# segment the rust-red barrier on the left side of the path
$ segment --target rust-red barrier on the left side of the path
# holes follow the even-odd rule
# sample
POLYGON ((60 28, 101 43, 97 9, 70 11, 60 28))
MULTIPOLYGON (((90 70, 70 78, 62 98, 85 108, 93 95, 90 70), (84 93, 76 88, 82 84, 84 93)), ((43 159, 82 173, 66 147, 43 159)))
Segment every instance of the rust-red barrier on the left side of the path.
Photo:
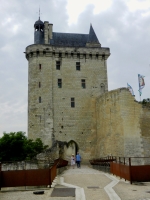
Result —
POLYGON ((1 171, 0 163, 0 189, 2 187, 51 185, 56 175, 56 165, 50 169, 1 171))

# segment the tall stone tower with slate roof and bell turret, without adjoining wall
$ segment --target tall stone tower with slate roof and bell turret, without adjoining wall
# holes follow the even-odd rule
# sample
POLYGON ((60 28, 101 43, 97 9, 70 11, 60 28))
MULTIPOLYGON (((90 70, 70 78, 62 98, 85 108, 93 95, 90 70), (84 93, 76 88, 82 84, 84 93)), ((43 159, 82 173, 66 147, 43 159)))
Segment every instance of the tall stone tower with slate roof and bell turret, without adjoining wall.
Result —
POLYGON ((34 24, 28 60, 28 137, 75 141, 84 159, 94 154, 95 98, 108 91, 109 48, 90 25, 89 34, 53 32, 53 25, 34 24))

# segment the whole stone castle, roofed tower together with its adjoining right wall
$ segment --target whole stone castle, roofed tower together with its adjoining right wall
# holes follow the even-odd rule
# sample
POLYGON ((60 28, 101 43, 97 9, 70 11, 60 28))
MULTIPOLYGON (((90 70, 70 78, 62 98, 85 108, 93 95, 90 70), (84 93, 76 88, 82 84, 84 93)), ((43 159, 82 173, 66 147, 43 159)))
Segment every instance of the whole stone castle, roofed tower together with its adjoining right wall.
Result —
POLYGON ((126 88, 108 92, 110 51, 101 47, 92 25, 89 34, 56 33, 39 18, 34 28, 34 44, 25 52, 28 137, 51 148, 71 142, 63 146, 64 157, 79 149, 84 162, 149 156, 150 110, 126 88))

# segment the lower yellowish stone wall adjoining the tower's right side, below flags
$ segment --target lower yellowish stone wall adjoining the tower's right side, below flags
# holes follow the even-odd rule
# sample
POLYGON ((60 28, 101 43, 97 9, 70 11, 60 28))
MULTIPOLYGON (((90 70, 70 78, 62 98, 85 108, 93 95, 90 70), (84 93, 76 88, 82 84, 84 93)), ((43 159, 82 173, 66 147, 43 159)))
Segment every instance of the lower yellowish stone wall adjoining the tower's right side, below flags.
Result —
POLYGON ((150 110, 135 101, 128 89, 101 95, 96 102, 96 156, 149 156, 150 110))

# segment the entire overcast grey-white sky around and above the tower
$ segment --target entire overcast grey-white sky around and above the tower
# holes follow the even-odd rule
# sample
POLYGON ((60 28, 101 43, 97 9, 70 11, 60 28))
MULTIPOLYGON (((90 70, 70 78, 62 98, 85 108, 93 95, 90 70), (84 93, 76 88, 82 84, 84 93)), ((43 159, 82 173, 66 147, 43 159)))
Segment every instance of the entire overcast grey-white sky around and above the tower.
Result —
POLYGON ((0 137, 27 132, 28 62, 24 51, 34 42, 38 19, 53 31, 88 33, 92 23, 102 47, 109 47, 109 90, 133 87, 139 101, 138 74, 145 76, 142 99, 150 98, 150 0, 1 0, 0 137))

